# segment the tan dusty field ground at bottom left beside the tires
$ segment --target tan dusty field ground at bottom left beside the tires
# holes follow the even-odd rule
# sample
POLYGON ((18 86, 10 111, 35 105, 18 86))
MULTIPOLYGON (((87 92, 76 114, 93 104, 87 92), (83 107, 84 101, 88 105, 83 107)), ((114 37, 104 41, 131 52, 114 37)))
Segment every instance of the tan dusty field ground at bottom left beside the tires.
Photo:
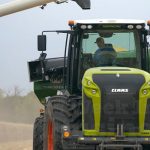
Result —
POLYGON ((0 150, 32 150, 33 126, 0 122, 0 150))

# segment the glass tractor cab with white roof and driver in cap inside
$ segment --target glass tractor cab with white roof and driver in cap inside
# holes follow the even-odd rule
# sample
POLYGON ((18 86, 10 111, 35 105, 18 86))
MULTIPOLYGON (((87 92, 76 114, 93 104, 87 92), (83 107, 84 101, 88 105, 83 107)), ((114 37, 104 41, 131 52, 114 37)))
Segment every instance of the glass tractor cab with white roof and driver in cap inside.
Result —
POLYGON ((71 44, 68 55, 73 85, 78 83, 75 89, 81 87, 80 81, 89 68, 130 67, 149 72, 145 21, 80 20, 70 21, 69 25, 76 33, 70 37, 74 46, 71 44))

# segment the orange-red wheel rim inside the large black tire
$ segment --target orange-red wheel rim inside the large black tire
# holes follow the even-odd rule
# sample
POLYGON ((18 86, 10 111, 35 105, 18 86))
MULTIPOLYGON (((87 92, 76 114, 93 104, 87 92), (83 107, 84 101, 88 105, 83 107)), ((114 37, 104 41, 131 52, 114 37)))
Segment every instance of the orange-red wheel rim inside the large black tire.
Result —
POLYGON ((48 150, 54 150, 54 141, 53 141, 53 124, 48 122, 48 150))

